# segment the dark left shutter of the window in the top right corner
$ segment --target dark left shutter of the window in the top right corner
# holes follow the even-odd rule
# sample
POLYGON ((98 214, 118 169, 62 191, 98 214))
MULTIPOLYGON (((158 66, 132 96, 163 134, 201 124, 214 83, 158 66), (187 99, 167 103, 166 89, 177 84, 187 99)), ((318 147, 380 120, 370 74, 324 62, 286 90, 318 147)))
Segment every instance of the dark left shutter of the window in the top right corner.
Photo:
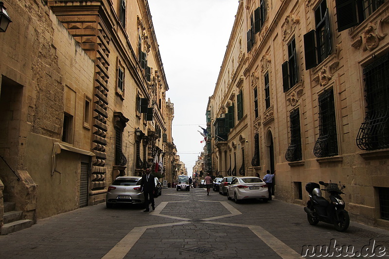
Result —
POLYGON ((357 25, 355 0, 336 0, 335 2, 338 32, 357 25))

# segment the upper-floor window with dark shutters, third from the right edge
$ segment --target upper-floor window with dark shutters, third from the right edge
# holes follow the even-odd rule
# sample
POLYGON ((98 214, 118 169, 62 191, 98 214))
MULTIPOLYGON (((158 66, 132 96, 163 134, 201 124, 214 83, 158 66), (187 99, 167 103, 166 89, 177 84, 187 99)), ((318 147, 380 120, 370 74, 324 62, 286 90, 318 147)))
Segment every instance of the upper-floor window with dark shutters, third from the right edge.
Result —
POLYGON ((283 69, 283 92, 292 88, 298 82, 296 40, 288 44, 288 61, 285 61, 283 69))

